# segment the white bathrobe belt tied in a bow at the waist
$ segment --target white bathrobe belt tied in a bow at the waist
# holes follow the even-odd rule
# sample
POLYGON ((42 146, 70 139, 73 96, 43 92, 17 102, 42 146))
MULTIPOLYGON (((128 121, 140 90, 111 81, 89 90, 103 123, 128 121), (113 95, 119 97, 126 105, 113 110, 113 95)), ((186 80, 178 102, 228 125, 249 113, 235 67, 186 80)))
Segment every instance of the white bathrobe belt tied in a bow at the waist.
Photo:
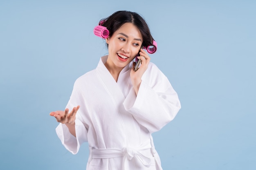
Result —
POLYGON ((137 157, 141 163, 149 167, 151 164, 151 159, 149 157, 146 157, 141 153, 143 150, 153 149, 151 140, 149 139, 147 142, 142 144, 140 147, 137 148, 130 148, 126 147, 123 149, 118 148, 107 148, 107 149, 97 149, 90 147, 90 159, 92 158, 98 158, 98 159, 104 159, 104 158, 115 158, 115 157, 123 157, 123 168, 125 169, 126 161, 133 159, 134 157, 137 157))

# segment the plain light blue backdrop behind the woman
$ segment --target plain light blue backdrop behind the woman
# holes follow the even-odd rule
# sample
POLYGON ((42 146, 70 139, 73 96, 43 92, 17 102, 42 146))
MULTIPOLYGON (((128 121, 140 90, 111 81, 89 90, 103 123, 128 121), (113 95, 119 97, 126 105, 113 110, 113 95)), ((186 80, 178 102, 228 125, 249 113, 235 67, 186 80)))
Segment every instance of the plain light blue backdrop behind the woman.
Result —
POLYGON ((1 0, 1 169, 85 170, 88 144, 68 152, 49 113, 107 53, 94 26, 130 10, 148 22, 151 61, 182 104, 153 134, 164 170, 255 170, 255 9, 254 0, 1 0))

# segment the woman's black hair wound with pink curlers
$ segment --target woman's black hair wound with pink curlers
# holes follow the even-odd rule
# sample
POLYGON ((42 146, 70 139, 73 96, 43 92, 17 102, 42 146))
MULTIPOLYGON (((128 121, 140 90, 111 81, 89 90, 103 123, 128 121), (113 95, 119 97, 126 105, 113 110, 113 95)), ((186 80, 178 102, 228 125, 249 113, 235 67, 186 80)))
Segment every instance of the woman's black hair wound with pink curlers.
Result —
POLYGON ((108 18, 100 20, 99 24, 107 27, 109 37, 111 37, 117 29, 127 22, 134 24, 139 29, 143 38, 142 46, 147 47, 153 45, 153 37, 148 28, 148 24, 138 13, 131 11, 117 11, 108 18))

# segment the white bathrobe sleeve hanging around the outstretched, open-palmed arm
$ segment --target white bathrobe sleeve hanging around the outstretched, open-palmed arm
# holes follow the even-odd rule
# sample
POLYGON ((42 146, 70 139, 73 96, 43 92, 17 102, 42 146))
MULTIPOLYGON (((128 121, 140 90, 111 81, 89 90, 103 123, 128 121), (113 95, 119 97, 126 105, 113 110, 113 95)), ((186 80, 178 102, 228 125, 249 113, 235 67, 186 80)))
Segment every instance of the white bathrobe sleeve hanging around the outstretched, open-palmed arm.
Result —
POLYGON ((76 113, 75 120, 76 137, 74 137, 70 133, 65 124, 60 123, 56 128, 56 133, 59 139, 61 139, 61 143, 72 154, 76 154, 79 151, 81 144, 83 142, 88 141, 88 128, 86 128, 87 126, 85 124, 84 118, 81 117, 81 115, 84 114, 83 112, 85 112, 85 106, 83 106, 83 97, 81 96, 81 91, 79 87, 80 83, 78 80, 76 80, 72 91, 72 95, 70 96, 70 100, 66 106, 66 108, 68 108, 71 111, 74 107, 80 105, 80 108, 76 113))

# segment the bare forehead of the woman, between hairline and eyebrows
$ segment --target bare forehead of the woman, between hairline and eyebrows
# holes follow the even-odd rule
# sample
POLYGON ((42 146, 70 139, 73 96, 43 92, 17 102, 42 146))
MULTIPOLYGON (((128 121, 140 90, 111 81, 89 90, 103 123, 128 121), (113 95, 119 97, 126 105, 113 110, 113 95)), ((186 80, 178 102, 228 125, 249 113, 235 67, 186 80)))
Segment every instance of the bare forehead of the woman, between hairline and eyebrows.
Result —
POLYGON ((135 26, 132 23, 125 23, 123 24, 117 31, 115 31, 114 35, 118 35, 120 33, 124 33, 126 35, 128 35, 129 38, 140 38, 142 39, 142 35, 139 31, 139 29, 137 28, 137 26, 135 26))

